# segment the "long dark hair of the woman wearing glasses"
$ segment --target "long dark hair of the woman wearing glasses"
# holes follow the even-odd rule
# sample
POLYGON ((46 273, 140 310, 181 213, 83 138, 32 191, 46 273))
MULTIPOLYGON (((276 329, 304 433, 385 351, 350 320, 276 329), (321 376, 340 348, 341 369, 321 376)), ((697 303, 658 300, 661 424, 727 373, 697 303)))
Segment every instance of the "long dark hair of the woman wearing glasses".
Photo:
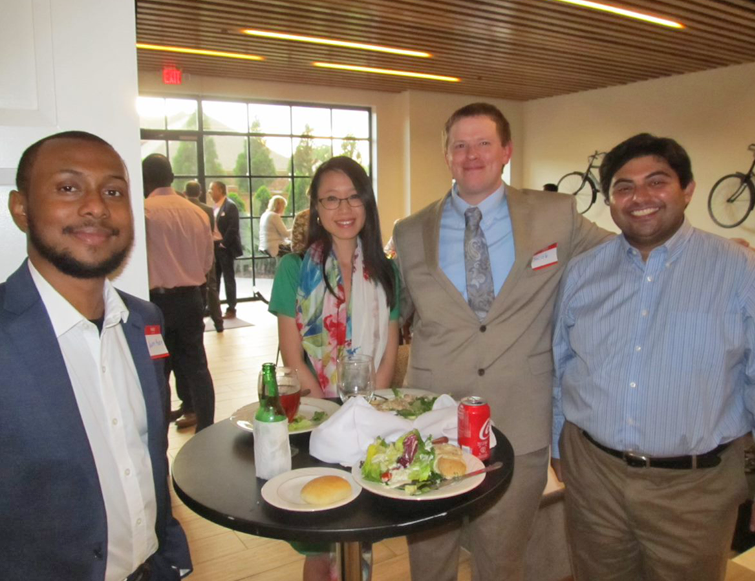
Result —
POLYGON ((330 293, 333 296, 338 296, 331 288, 325 276, 325 261, 333 248, 333 241, 328 231, 320 223, 320 208, 317 205, 320 182, 322 181, 322 177, 330 171, 338 171, 345 174, 351 180, 351 183, 354 184, 354 189, 356 189, 357 195, 364 204, 364 227, 359 233, 359 239, 362 241, 362 252, 364 254, 364 268, 370 280, 383 286, 388 305, 393 309, 396 306, 396 281, 391 261, 383 252, 380 220, 378 219, 377 204, 375 203, 375 194, 372 191, 372 183, 364 168, 350 157, 340 155, 330 158, 317 168, 315 175, 312 177, 312 184, 309 186, 309 238, 307 240, 307 247, 312 246, 315 242, 322 243, 323 279, 330 293))

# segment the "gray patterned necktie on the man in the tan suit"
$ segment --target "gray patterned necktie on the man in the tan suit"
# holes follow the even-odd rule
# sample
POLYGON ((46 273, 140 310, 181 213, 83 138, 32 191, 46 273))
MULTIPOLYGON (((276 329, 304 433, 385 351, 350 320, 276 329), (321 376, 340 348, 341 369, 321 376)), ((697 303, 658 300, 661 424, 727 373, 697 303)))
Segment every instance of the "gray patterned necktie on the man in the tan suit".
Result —
POLYGON ((467 272, 467 301, 481 321, 493 304, 493 273, 485 233, 480 228, 482 212, 477 207, 464 212, 464 266, 467 272))

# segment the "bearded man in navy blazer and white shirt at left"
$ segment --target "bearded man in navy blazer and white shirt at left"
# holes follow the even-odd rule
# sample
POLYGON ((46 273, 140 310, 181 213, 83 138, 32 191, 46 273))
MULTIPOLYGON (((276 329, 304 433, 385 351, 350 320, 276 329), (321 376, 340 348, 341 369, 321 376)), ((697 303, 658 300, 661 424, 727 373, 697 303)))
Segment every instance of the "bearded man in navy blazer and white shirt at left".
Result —
POLYGON ((133 242, 126 168, 60 133, 26 150, 17 188, 29 258, 0 284, 0 577, 179 579, 162 315, 107 280, 133 242))

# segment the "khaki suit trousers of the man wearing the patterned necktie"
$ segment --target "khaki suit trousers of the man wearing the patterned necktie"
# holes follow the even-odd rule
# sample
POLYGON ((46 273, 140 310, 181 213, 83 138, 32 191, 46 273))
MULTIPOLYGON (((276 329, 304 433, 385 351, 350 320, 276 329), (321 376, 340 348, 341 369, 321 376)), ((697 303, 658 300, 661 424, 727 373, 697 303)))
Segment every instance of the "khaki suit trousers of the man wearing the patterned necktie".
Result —
MULTIPOLYGON (((465 523, 474 581, 522 581, 524 553, 548 479, 548 448, 514 459, 509 488, 465 523)), ((453 581, 459 567, 462 524, 409 535, 413 581, 453 581)))

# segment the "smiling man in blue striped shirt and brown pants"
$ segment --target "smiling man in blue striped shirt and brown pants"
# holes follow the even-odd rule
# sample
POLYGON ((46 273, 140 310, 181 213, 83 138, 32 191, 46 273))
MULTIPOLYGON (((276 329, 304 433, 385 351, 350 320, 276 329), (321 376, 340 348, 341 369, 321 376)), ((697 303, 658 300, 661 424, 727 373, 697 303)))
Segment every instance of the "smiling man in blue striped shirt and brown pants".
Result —
POLYGON ((747 494, 755 255, 685 219, 695 184, 671 139, 628 139, 600 178, 623 235, 569 263, 554 315, 574 576, 722 580, 747 494))

